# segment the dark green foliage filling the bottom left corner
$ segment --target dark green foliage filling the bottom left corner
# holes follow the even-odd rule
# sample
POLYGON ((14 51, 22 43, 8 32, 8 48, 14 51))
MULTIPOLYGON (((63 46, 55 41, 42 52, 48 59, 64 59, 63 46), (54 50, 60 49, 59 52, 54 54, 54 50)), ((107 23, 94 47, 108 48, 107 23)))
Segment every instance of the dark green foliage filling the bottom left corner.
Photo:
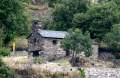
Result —
POLYGON ((0 59, 0 78, 17 78, 15 72, 0 59))

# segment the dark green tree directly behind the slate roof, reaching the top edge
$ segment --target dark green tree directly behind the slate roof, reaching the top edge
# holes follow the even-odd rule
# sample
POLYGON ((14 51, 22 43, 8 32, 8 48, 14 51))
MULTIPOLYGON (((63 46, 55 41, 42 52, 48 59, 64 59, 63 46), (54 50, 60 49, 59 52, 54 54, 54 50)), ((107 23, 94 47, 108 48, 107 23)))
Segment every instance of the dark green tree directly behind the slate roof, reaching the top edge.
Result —
POLYGON ((47 28, 54 30, 68 30, 73 27, 72 19, 76 13, 84 13, 88 9, 86 0, 61 0, 54 4, 53 20, 47 28), (53 25, 51 25, 53 24, 53 25))

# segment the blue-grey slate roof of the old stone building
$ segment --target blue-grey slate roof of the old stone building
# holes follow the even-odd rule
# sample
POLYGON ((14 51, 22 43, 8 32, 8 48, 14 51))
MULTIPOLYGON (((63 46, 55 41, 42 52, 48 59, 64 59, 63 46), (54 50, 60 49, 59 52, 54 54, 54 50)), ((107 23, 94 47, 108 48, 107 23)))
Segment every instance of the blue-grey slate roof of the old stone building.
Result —
POLYGON ((65 38, 67 32, 65 31, 52 31, 52 30, 38 30, 42 37, 46 38, 65 38))

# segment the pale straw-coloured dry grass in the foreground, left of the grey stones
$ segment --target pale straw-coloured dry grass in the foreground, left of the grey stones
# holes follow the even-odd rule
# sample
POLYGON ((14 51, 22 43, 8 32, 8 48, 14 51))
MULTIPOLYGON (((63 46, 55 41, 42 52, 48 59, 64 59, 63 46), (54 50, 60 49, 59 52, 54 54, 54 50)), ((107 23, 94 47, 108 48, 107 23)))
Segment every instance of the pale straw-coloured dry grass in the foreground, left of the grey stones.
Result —
POLYGON ((70 71, 72 67, 67 67, 64 65, 59 66, 57 63, 33 64, 29 69, 23 69, 23 65, 28 63, 27 56, 4 57, 2 59, 7 65, 13 69, 16 69, 16 72, 21 76, 21 78, 80 78, 79 72, 74 71, 74 68, 72 71, 70 71), (48 66, 50 70, 58 68, 58 71, 51 72, 50 70, 45 69, 45 65, 48 66), (66 72, 59 72, 61 68, 65 68, 64 70, 66 72))

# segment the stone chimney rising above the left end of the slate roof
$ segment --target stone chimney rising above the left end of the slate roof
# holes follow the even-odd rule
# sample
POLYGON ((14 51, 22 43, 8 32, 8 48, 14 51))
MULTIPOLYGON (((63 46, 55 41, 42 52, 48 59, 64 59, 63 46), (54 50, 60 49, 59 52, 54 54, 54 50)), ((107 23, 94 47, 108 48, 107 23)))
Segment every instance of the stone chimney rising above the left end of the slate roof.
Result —
POLYGON ((39 20, 32 21, 32 32, 36 32, 42 29, 42 23, 39 20))

